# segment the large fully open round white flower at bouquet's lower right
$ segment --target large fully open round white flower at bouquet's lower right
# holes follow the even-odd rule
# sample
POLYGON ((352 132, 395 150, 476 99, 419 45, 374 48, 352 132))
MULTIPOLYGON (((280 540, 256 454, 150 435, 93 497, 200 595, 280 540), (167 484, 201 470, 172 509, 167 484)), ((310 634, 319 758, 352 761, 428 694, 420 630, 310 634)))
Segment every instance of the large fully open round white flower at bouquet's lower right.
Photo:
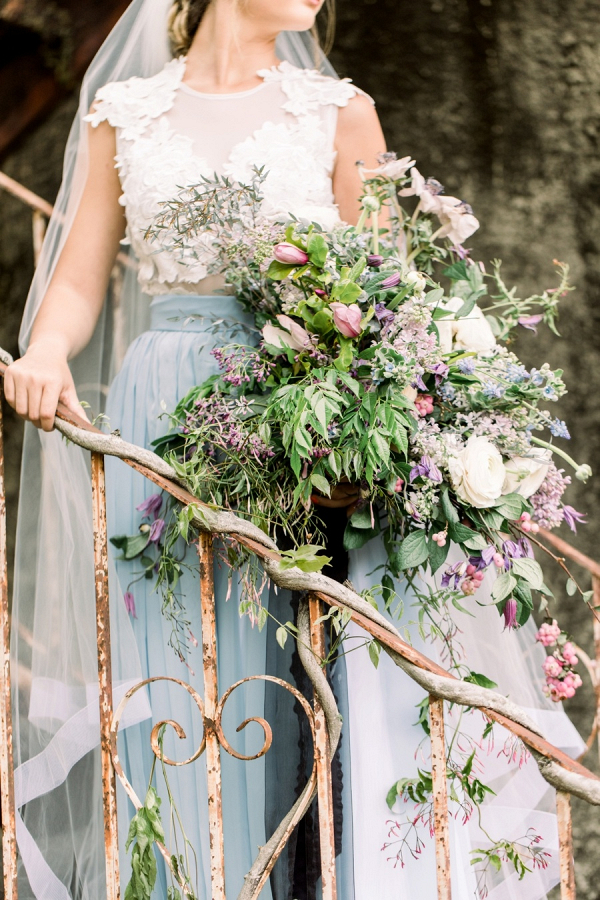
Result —
POLYGON ((502 495, 506 469, 500 451, 487 438, 469 438, 456 456, 450 456, 448 468, 456 493, 471 506, 485 509, 502 495))

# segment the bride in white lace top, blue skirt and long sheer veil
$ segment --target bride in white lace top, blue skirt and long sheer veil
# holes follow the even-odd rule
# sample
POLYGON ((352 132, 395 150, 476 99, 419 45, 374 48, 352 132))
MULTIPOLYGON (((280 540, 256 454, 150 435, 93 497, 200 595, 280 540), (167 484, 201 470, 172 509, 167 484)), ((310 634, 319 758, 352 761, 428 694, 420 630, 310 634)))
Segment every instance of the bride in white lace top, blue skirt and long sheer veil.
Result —
MULTIPOLYGON (((82 451, 51 433, 57 403, 81 415, 85 400, 94 414, 102 409, 109 427, 126 440, 149 446, 167 428, 161 413, 215 370, 212 348, 236 329, 251 327, 226 286, 208 274, 211 248, 201 236, 185 266, 144 238, 161 203, 182 187, 213 173, 248 181, 254 167, 264 166, 270 214, 293 213, 325 227, 340 219, 356 222, 361 193, 356 161, 374 166, 384 138, 371 99, 335 77, 311 36, 324 5, 324 0, 134 0, 84 81, 63 187, 24 317, 23 355, 5 379, 9 403, 37 427, 28 426, 26 434, 13 605, 22 898, 96 900, 105 894, 88 462, 82 451), (120 247, 129 265, 117 294, 109 281, 120 247)), ((333 4, 327 6, 331 13, 333 4)), ((151 485, 128 467, 109 460, 107 485, 111 535, 134 533, 144 514, 146 522, 162 521, 164 499, 154 497, 151 485)), ((352 499, 340 496, 335 505, 343 508, 352 499)), ((373 570, 381 554, 375 542, 351 554, 349 574, 359 590, 376 580, 373 570)), ((202 692, 201 651, 194 647, 201 631, 199 589, 192 573, 186 571, 178 586, 189 619, 189 652, 183 658, 169 647, 170 628, 152 582, 141 579, 131 587, 131 579, 131 563, 115 554, 115 702, 152 675, 185 680, 202 692)), ((220 692, 257 673, 297 680, 291 649, 280 650, 269 628, 259 632, 239 617, 239 585, 226 602, 227 574, 219 566, 215 581, 220 692)), ((272 592, 264 602, 281 621, 293 618, 293 598, 285 592, 272 592)), ((461 629, 471 668, 494 677, 555 743, 578 752, 574 729, 537 686, 540 660, 531 631, 500 633, 497 616, 461 623, 461 629)), ((436 648, 426 652, 435 656, 436 648)), ((385 802, 395 781, 422 767, 422 732, 413 724, 422 693, 402 680, 389 660, 375 670, 362 651, 340 658, 331 674, 344 713, 334 767, 339 896, 433 900, 432 842, 426 837, 420 859, 406 845, 399 865, 394 835, 403 813, 390 811, 385 802), (382 851, 384 844, 390 846, 382 851)), ((223 754, 230 897, 239 893, 259 846, 293 803, 308 761, 292 704, 286 706, 275 689, 261 684, 238 690, 225 720, 232 733, 242 720, 264 712, 275 734, 264 759, 241 763, 223 754)), ((151 777, 152 724, 165 718, 187 734, 177 748, 166 738, 169 756, 189 756, 200 743, 201 722, 185 691, 157 682, 146 695, 137 694, 122 721, 120 757, 138 795, 151 777)), ((248 755, 260 746, 251 731, 236 744, 248 755)), ((533 764, 520 766, 498 753, 505 737, 496 734, 495 750, 485 757, 484 780, 495 790, 486 804, 487 832, 518 841, 532 828, 555 851, 552 793, 533 764)), ((190 857, 194 890, 199 900, 207 900, 203 763, 172 773, 170 793, 195 851, 190 857)), ((167 821, 167 789, 162 781, 157 789, 167 821)), ((120 796, 123 884, 131 814, 120 796)), ((263 896, 317 895, 311 828, 308 820, 292 838, 263 896)), ((469 854, 488 846, 490 838, 477 823, 463 825, 460 818, 451 820, 451 833, 453 896, 467 900, 476 891, 469 854)), ((489 897, 537 900, 556 883, 557 871, 556 853, 547 869, 523 882, 503 869, 490 881, 489 897)), ((160 897, 167 897, 168 884, 159 866, 160 897)))

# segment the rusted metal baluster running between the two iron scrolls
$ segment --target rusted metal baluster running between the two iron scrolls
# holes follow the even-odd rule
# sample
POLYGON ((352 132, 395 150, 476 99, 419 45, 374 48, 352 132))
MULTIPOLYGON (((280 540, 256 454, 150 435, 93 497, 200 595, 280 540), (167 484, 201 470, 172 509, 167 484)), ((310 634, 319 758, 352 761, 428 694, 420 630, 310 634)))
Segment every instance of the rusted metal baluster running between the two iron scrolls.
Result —
POLYGON ((217 625, 213 539, 201 534, 200 603, 202 608, 202 664, 204 667, 204 729, 206 735, 206 771, 208 775, 208 822, 210 829, 210 876, 212 900, 225 900, 225 851, 223 845, 223 807, 221 802, 221 751, 215 729, 217 710, 217 625))

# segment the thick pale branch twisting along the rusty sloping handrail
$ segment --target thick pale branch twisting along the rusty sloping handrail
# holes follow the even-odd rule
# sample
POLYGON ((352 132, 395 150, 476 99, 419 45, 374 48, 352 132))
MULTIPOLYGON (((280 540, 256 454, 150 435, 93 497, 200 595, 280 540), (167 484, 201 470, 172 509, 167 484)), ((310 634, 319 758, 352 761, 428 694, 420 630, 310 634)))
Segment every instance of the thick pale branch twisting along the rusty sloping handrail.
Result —
MULTIPOLYGON (((0 376, 4 368, 5 366, 0 363, 0 376)), ((501 722, 523 740, 532 751, 543 777, 550 784, 560 790, 576 794, 588 803, 600 806, 600 778, 550 744, 517 704, 497 691, 458 680, 420 654, 401 639, 398 631, 384 616, 349 587, 340 585, 320 573, 305 573, 296 568, 282 570, 275 545, 260 529, 254 528, 233 513, 218 513, 201 503, 178 483, 173 483, 162 472, 155 471, 158 468, 155 460, 152 460, 152 468, 147 467, 149 451, 126 442, 117 445, 114 440, 107 441, 106 435, 59 406, 57 428, 62 428, 65 421, 76 426, 69 431, 69 439, 73 443, 108 455, 120 455, 126 451, 127 455, 121 456, 125 462, 141 471, 181 503, 193 504, 197 508, 195 524, 200 530, 227 534, 239 540, 262 560, 267 574, 278 586, 296 591, 313 591, 328 604, 350 610, 353 620, 375 636, 394 662, 426 691, 448 702, 479 707, 484 714, 501 722), (119 453, 113 452, 115 450, 119 453), (222 519, 222 516, 226 519, 222 519)), ((163 460, 160 462, 165 465, 163 460)), ((292 815, 292 812, 289 815, 292 815)), ((270 847, 270 842, 265 848, 267 846, 270 847)), ((247 896, 250 897, 251 894, 247 896)))

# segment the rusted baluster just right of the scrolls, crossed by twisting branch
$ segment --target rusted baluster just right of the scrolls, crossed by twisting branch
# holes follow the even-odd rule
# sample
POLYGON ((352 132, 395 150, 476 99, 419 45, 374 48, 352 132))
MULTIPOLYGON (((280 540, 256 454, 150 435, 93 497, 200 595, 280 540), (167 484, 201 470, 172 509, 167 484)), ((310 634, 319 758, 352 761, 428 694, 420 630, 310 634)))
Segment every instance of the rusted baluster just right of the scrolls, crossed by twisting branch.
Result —
MULTIPOLYGON (((321 601, 313 594, 309 597, 309 609, 311 647, 313 653, 321 660, 325 657, 325 632, 323 623, 318 621, 322 615, 321 601)), ((325 714, 316 695, 314 697, 314 710, 323 900, 336 900, 335 832, 333 826, 329 733, 327 731, 325 714)))

